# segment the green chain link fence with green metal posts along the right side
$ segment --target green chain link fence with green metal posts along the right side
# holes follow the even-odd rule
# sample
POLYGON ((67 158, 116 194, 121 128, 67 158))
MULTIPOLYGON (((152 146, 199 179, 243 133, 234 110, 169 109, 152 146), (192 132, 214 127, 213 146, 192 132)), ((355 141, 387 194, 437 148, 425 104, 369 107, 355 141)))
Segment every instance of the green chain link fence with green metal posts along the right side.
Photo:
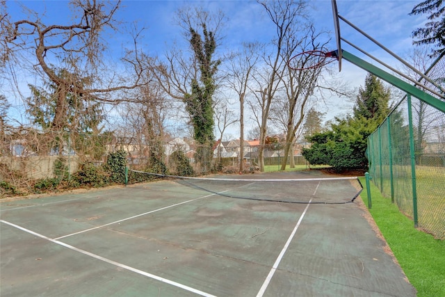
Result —
MULTIPOLYGON (((444 55, 426 74, 445 88, 444 55)), ((444 111, 407 95, 369 136, 368 149, 374 184, 416 227, 445 239, 444 111)))

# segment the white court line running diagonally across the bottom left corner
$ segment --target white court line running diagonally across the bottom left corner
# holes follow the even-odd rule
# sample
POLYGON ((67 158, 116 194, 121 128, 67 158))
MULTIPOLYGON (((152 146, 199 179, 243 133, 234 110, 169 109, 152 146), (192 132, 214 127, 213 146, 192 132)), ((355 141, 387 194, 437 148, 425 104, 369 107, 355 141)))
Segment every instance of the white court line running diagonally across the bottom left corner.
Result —
POLYGON ((128 265, 125 265, 125 264, 122 264, 122 263, 119 263, 119 262, 115 262, 115 261, 113 261, 113 260, 111 260, 111 259, 107 259, 107 258, 105 258, 105 257, 101 257, 101 256, 99 256, 99 255, 93 254, 92 252, 87 252, 86 250, 82 250, 82 249, 80 249, 80 248, 76 248, 75 246, 70 246, 70 245, 67 244, 67 243, 63 243, 62 241, 58 241, 58 240, 56 240, 56 239, 50 239, 50 238, 47 237, 47 236, 44 236, 44 235, 39 234, 39 233, 37 233, 37 232, 33 232, 33 231, 28 230, 28 229, 26 229, 26 228, 24 228, 24 227, 20 227, 19 225, 15 225, 15 224, 13 224, 13 223, 7 222, 6 220, 0 220, 0 222, 1 222, 1 223, 5 223, 6 225, 10 225, 11 227, 15 227, 15 228, 17 228, 17 229, 19 229, 19 230, 22 230, 22 231, 24 231, 24 232, 27 232, 27 233, 29 233, 29 234, 33 234, 33 235, 35 235, 35 236, 38 236, 38 237, 40 237, 41 239, 46 239, 47 241, 51 241, 52 243, 56 243, 56 244, 58 244, 58 245, 60 245, 60 246, 64 246, 65 248, 69 248, 70 250, 74 250, 74 251, 76 251, 76 252, 80 252, 80 253, 83 254, 83 255, 87 255, 87 256, 93 257, 93 258, 95 258, 95 259, 98 259, 98 260, 100 260, 100 261, 106 262, 106 263, 108 263, 108 264, 111 264, 111 265, 114 265, 114 266, 118 266, 118 267, 123 268, 123 269, 125 269, 125 270, 127 270, 127 271, 131 271, 131 272, 134 272, 134 273, 138 273, 138 274, 140 274, 140 275, 144 275, 144 276, 146 276, 147 278, 152 278, 152 279, 154 279, 154 280, 159 280, 160 282, 165 282, 166 284, 171 284, 172 286, 175 286, 175 287, 184 289, 184 290, 186 290, 186 291, 191 291, 191 292, 193 292, 193 293, 195 293, 195 294, 198 294, 198 295, 200 295, 200 296, 205 296, 205 297, 216 297, 216 296, 211 295, 211 294, 209 294, 209 293, 206 293, 206 292, 204 292, 204 291, 200 291, 200 290, 197 290, 197 289, 193 289, 192 287, 188 287, 188 286, 186 286, 185 284, 180 284, 179 282, 174 282, 174 281, 172 281, 172 280, 168 280, 168 279, 166 279, 166 278, 161 278, 161 277, 158 276, 158 275, 154 275, 154 274, 152 274, 152 273, 147 273, 147 272, 145 272, 145 271, 141 271, 140 269, 133 268, 133 267, 131 267, 131 266, 128 266, 128 265))

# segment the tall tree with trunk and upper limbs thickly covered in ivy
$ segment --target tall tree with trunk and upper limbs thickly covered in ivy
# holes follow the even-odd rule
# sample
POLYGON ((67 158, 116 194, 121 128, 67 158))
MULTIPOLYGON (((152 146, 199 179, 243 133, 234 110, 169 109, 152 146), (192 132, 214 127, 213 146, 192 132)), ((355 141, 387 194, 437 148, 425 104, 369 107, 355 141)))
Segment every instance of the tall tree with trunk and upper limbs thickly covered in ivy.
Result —
POLYGON ((164 57, 147 58, 147 68, 165 94, 184 102, 188 124, 196 143, 195 162, 200 170, 211 169, 215 127, 214 93, 218 86, 216 58, 223 13, 209 13, 199 6, 177 10, 176 22, 184 29, 190 51, 172 46, 164 57))

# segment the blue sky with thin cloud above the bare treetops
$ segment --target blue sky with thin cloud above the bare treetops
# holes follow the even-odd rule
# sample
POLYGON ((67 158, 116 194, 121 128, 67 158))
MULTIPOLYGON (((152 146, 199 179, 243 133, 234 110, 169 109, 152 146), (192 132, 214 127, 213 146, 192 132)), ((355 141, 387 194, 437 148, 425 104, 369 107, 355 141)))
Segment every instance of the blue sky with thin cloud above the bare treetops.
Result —
MULTIPOLYGON (((408 15, 412 8, 419 3, 417 1, 337 1, 339 14, 369 33, 376 40, 384 44, 391 51, 405 57, 412 51, 411 33, 426 22, 426 16, 408 15)), ((64 23, 70 20, 67 1, 8 1, 8 8, 13 19, 23 18, 19 10, 19 5, 38 11, 40 15, 45 15, 42 20, 46 24, 64 23)), ((255 1, 129 1, 122 3, 122 9, 118 12, 118 19, 124 22, 137 21, 140 26, 145 26, 143 46, 149 54, 162 54, 168 49, 171 42, 177 40, 181 42, 181 35, 178 26, 173 22, 172 17, 175 10, 184 4, 201 4, 209 10, 223 10, 228 17, 225 26, 224 49, 236 49, 241 42, 259 40, 268 42, 273 37, 275 29, 266 16, 264 8, 255 1)), ((330 47, 336 49, 334 42, 334 26, 332 20, 331 1, 315 0, 311 1, 312 17, 317 29, 331 31, 332 41, 330 47)), ((359 36, 353 30, 341 22, 341 35, 359 47, 366 49, 371 54, 392 63, 391 58, 382 54, 382 51, 371 44, 365 38, 359 36)), ((111 36, 115 39, 116 47, 120 47, 126 40, 125 36, 111 36)), ((343 45, 343 49, 354 52, 348 45, 343 45)), ((361 56, 361 54, 357 54, 361 56)), ((350 87, 358 88, 364 83, 366 72, 360 70, 355 65, 350 65, 343 61, 342 71, 336 74, 350 87)), ((341 115, 350 110, 350 102, 345 99, 332 97, 327 100, 326 106, 320 106, 321 111, 327 112, 325 120, 330 120, 334 115, 341 115)), ((16 109, 17 111, 18 109, 16 109)), ((15 115, 17 116, 17 113, 15 115)), ((235 132, 236 133, 236 132, 235 132)))

